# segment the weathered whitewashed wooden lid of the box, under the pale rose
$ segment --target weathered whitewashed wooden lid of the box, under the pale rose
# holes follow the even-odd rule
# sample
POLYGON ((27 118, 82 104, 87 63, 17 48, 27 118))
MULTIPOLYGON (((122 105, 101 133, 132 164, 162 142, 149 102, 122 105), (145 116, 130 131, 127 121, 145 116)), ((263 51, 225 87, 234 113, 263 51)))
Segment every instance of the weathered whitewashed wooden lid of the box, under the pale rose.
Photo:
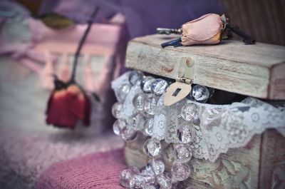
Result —
POLYGON ((257 98, 285 100, 285 46, 221 41, 214 46, 160 44, 177 36, 150 35, 128 44, 125 66, 177 78, 180 59, 195 61, 194 83, 257 98))

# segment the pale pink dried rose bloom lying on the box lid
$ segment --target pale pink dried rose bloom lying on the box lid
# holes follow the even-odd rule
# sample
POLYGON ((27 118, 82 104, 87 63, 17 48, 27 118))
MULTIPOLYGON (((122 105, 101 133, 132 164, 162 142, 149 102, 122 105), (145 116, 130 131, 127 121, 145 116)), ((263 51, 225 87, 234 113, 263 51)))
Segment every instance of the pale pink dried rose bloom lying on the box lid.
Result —
POLYGON ((205 14, 182 25, 181 44, 218 44, 221 40, 223 22, 218 14, 205 14))

